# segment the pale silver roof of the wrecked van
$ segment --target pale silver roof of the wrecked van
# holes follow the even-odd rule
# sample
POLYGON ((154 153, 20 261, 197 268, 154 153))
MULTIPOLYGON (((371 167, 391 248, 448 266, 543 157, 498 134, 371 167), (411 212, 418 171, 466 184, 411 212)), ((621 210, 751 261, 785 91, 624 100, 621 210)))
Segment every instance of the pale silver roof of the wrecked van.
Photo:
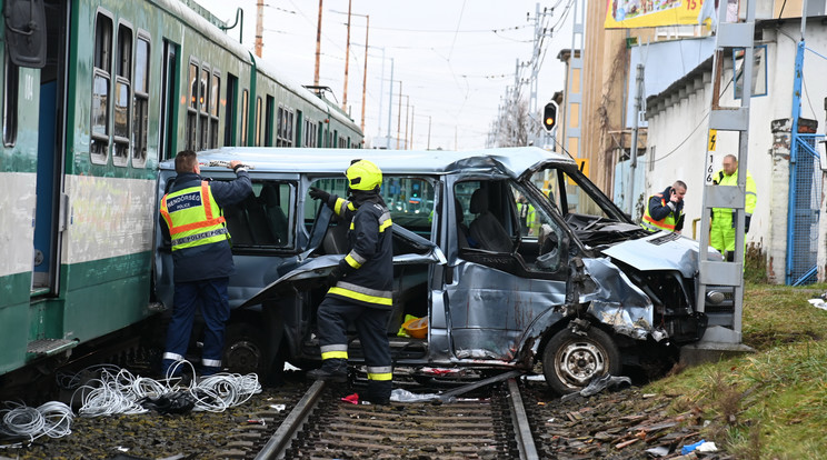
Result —
MULTIPOLYGON (((225 147, 198 153, 202 164, 239 160, 257 171, 295 173, 341 173, 353 159, 370 160, 386 174, 449 174, 458 170, 476 170, 501 172, 515 178, 547 164, 575 164, 575 160, 567 156, 537 147, 462 151, 225 147)), ((175 169, 175 162, 167 160, 160 168, 175 169)))

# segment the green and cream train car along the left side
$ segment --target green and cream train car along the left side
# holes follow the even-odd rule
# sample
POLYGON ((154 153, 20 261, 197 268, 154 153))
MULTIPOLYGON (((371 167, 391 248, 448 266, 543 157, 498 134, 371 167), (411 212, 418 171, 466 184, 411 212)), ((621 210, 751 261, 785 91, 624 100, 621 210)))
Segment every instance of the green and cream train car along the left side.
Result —
POLYGON ((346 113, 193 2, 0 4, 0 389, 157 317, 159 162, 186 148, 361 147, 346 113))

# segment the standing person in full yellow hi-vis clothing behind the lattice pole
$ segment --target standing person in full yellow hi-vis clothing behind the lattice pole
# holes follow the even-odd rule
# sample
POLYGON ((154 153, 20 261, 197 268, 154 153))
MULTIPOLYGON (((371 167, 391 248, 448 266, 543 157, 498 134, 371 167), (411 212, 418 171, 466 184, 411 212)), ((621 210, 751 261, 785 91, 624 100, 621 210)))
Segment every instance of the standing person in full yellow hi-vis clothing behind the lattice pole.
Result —
MULTIPOLYGON (((738 159, 734 154, 724 157, 724 169, 713 176, 713 183, 716 186, 736 187, 738 186, 738 159)), ((744 234, 749 231, 749 221, 753 219, 755 206, 758 202, 758 194, 755 188, 753 176, 747 171, 747 190, 744 203, 744 234)), ((735 259, 735 214, 730 208, 713 208, 713 221, 710 223, 709 244, 720 251, 726 252, 726 260, 735 259)), ((744 239, 746 246, 746 238, 744 239)))

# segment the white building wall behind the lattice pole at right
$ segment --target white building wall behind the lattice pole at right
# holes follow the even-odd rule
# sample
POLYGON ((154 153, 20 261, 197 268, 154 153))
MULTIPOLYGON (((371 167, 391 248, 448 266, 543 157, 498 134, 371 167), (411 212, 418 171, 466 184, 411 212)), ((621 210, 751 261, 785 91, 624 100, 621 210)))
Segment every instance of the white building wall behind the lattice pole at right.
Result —
MULTIPOLYGON (((827 74, 827 60, 818 54, 827 56, 827 26, 823 26, 820 21, 808 21, 806 32, 806 46, 815 52, 805 53, 801 117, 817 120, 818 132, 823 133, 824 98, 827 96, 827 78, 824 76, 827 74)), ((769 256, 774 258, 775 270, 781 270, 781 282, 787 237, 786 232, 779 233, 781 228, 786 229, 788 180, 785 176, 787 166, 783 162, 788 159, 774 159, 770 154, 773 148, 770 122, 791 116, 796 44, 799 38, 800 23, 797 21, 787 21, 778 31, 764 30, 761 43, 767 44, 767 96, 750 100, 747 164, 758 190, 758 206, 753 216, 747 242, 759 243, 765 251, 774 248, 769 256), (776 177, 774 171, 777 171, 776 177), (783 177, 777 177, 779 174, 783 177), (773 219, 784 220, 785 224, 779 226, 780 222, 773 222, 773 219)), ((657 72, 658 69, 648 66, 646 71, 657 72)), ((725 71, 725 76, 721 87, 726 90, 723 92, 720 103, 724 107, 737 107, 739 101, 733 99, 731 68, 725 71)), ((671 96, 672 99, 662 111, 657 112, 656 108, 647 108, 647 117, 650 117, 647 140, 654 164, 648 161, 642 164, 648 171, 646 192, 656 193, 676 179, 684 180, 688 186, 685 203, 687 223, 684 234, 691 237, 693 220, 698 219, 701 212, 701 192, 706 177, 705 154, 711 74, 706 72, 705 78, 695 79, 681 88, 672 89, 671 93, 660 96, 671 96)), ((724 156, 728 153, 738 156, 737 132, 718 134, 718 144, 713 152, 714 172, 720 169, 724 156)))

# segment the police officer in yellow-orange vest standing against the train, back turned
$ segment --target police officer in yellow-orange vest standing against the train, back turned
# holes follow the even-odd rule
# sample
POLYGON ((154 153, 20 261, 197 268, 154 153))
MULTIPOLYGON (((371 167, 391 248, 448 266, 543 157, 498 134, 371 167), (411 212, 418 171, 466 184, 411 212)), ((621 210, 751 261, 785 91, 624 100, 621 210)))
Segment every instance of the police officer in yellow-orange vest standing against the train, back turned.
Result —
POLYGON ((230 233, 221 208, 242 201, 252 191, 241 162, 231 161, 228 168, 236 172, 236 180, 210 182, 199 176, 196 152, 181 151, 176 156, 178 177, 161 199, 161 231, 171 239, 176 283, 165 374, 173 368, 175 376, 180 376, 175 363, 185 359, 199 308, 207 326, 199 372, 210 376, 221 369, 225 323, 230 317, 227 287, 233 272, 230 233))

